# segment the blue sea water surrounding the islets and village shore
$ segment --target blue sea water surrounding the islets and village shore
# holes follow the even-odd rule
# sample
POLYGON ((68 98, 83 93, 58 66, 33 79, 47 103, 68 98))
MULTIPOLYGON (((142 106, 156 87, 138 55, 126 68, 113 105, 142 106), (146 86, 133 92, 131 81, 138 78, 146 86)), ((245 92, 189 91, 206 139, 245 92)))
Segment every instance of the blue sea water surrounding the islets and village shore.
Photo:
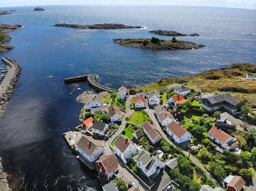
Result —
MULTIPOLYGON (((15 94, 0 116, 0 156, 15 190, 99 190, 96 177, 76 160, 62 133, 78 125, 83 104, 75 98, 86 83, 68 87, 63 80, 99 75, 118 88, 145 85, 163 77, 195 75, 231 63, 256 63, 256 10, 207 7, 43 6, 1 15, 0 23, 20 24, 10 33, 14 49, 3 54, 23 71, 15 94), (88 30, 58 28, 56 23, 121 23, 145 29, 88 30), (151 38, 149 30, 198 33, 177 37, 206 48, 152 51, 124 48, 114 38, 151 38), (73 91, 70 96, 69 91, 73 91)), ((154 35, 161 39, 170 39, 154 35)))

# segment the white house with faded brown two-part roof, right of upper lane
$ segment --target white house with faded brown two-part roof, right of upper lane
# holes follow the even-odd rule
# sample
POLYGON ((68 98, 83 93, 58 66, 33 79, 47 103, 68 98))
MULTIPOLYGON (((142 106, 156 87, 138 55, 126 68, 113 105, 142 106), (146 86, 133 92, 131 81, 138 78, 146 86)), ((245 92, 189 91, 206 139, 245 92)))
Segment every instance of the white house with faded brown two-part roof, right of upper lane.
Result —
POLYGON ((162 105, 154 107, 158 122, 164 127, 171 123, 175 118, 162 105))

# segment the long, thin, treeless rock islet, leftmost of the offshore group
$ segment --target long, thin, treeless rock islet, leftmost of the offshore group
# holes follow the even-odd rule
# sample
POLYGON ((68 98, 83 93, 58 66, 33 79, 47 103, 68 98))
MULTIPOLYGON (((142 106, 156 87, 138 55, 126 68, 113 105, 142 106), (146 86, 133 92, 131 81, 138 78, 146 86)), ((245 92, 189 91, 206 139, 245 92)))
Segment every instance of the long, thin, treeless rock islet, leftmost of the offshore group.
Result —
POLYGON ((58 27, 70 27, 76 29, 141 29, 142 26, 127 26, 122 24, 96 24, 96 25, 74 25, 74 24, 55 24, 58 27))

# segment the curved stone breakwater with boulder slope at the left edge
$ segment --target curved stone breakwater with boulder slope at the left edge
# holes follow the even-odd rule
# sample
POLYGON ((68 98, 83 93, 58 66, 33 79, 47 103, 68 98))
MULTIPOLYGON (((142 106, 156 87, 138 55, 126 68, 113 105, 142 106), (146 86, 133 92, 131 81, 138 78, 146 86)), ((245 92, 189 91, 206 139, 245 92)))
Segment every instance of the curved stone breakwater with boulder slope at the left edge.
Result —
MULTIPOLYGON (((15 67, 15 68, 14 68, 14 74, 9 80, 9 85, 6 88, 6 91, 3 94, 0 95, 0 115, 3 114, 3 111, 5 109, 6 104, 9 102, 12 95, 14 94, 15 87, 17 85, 19 76, 20 76, 21 71, 22 71, 22 68, 20 67, 20 65, 18 65, 17 62, 15 60, 13 60, 12 58, 3 57, 2 61, 6 65, 11 65, 11 67, 15 67)), ((2 83, 4 83, 4 81, 2 83)), ((4 86, 4 84, 1 84, 1 86, 4 86)))

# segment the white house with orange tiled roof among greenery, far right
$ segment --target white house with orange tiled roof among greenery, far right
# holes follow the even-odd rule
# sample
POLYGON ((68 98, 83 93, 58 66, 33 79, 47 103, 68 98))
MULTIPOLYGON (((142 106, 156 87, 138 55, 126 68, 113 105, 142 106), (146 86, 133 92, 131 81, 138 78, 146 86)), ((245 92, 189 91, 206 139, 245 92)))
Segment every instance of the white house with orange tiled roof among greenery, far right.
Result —
POLYGON ((208 132, 208 137, 215 143, 220 144, 227 151, 230 149, 236 149, 239 145, 238 141, 234 137, 224 131, 221 131, 220 129, 216 129, 215 127, 210 129, 208 132))

